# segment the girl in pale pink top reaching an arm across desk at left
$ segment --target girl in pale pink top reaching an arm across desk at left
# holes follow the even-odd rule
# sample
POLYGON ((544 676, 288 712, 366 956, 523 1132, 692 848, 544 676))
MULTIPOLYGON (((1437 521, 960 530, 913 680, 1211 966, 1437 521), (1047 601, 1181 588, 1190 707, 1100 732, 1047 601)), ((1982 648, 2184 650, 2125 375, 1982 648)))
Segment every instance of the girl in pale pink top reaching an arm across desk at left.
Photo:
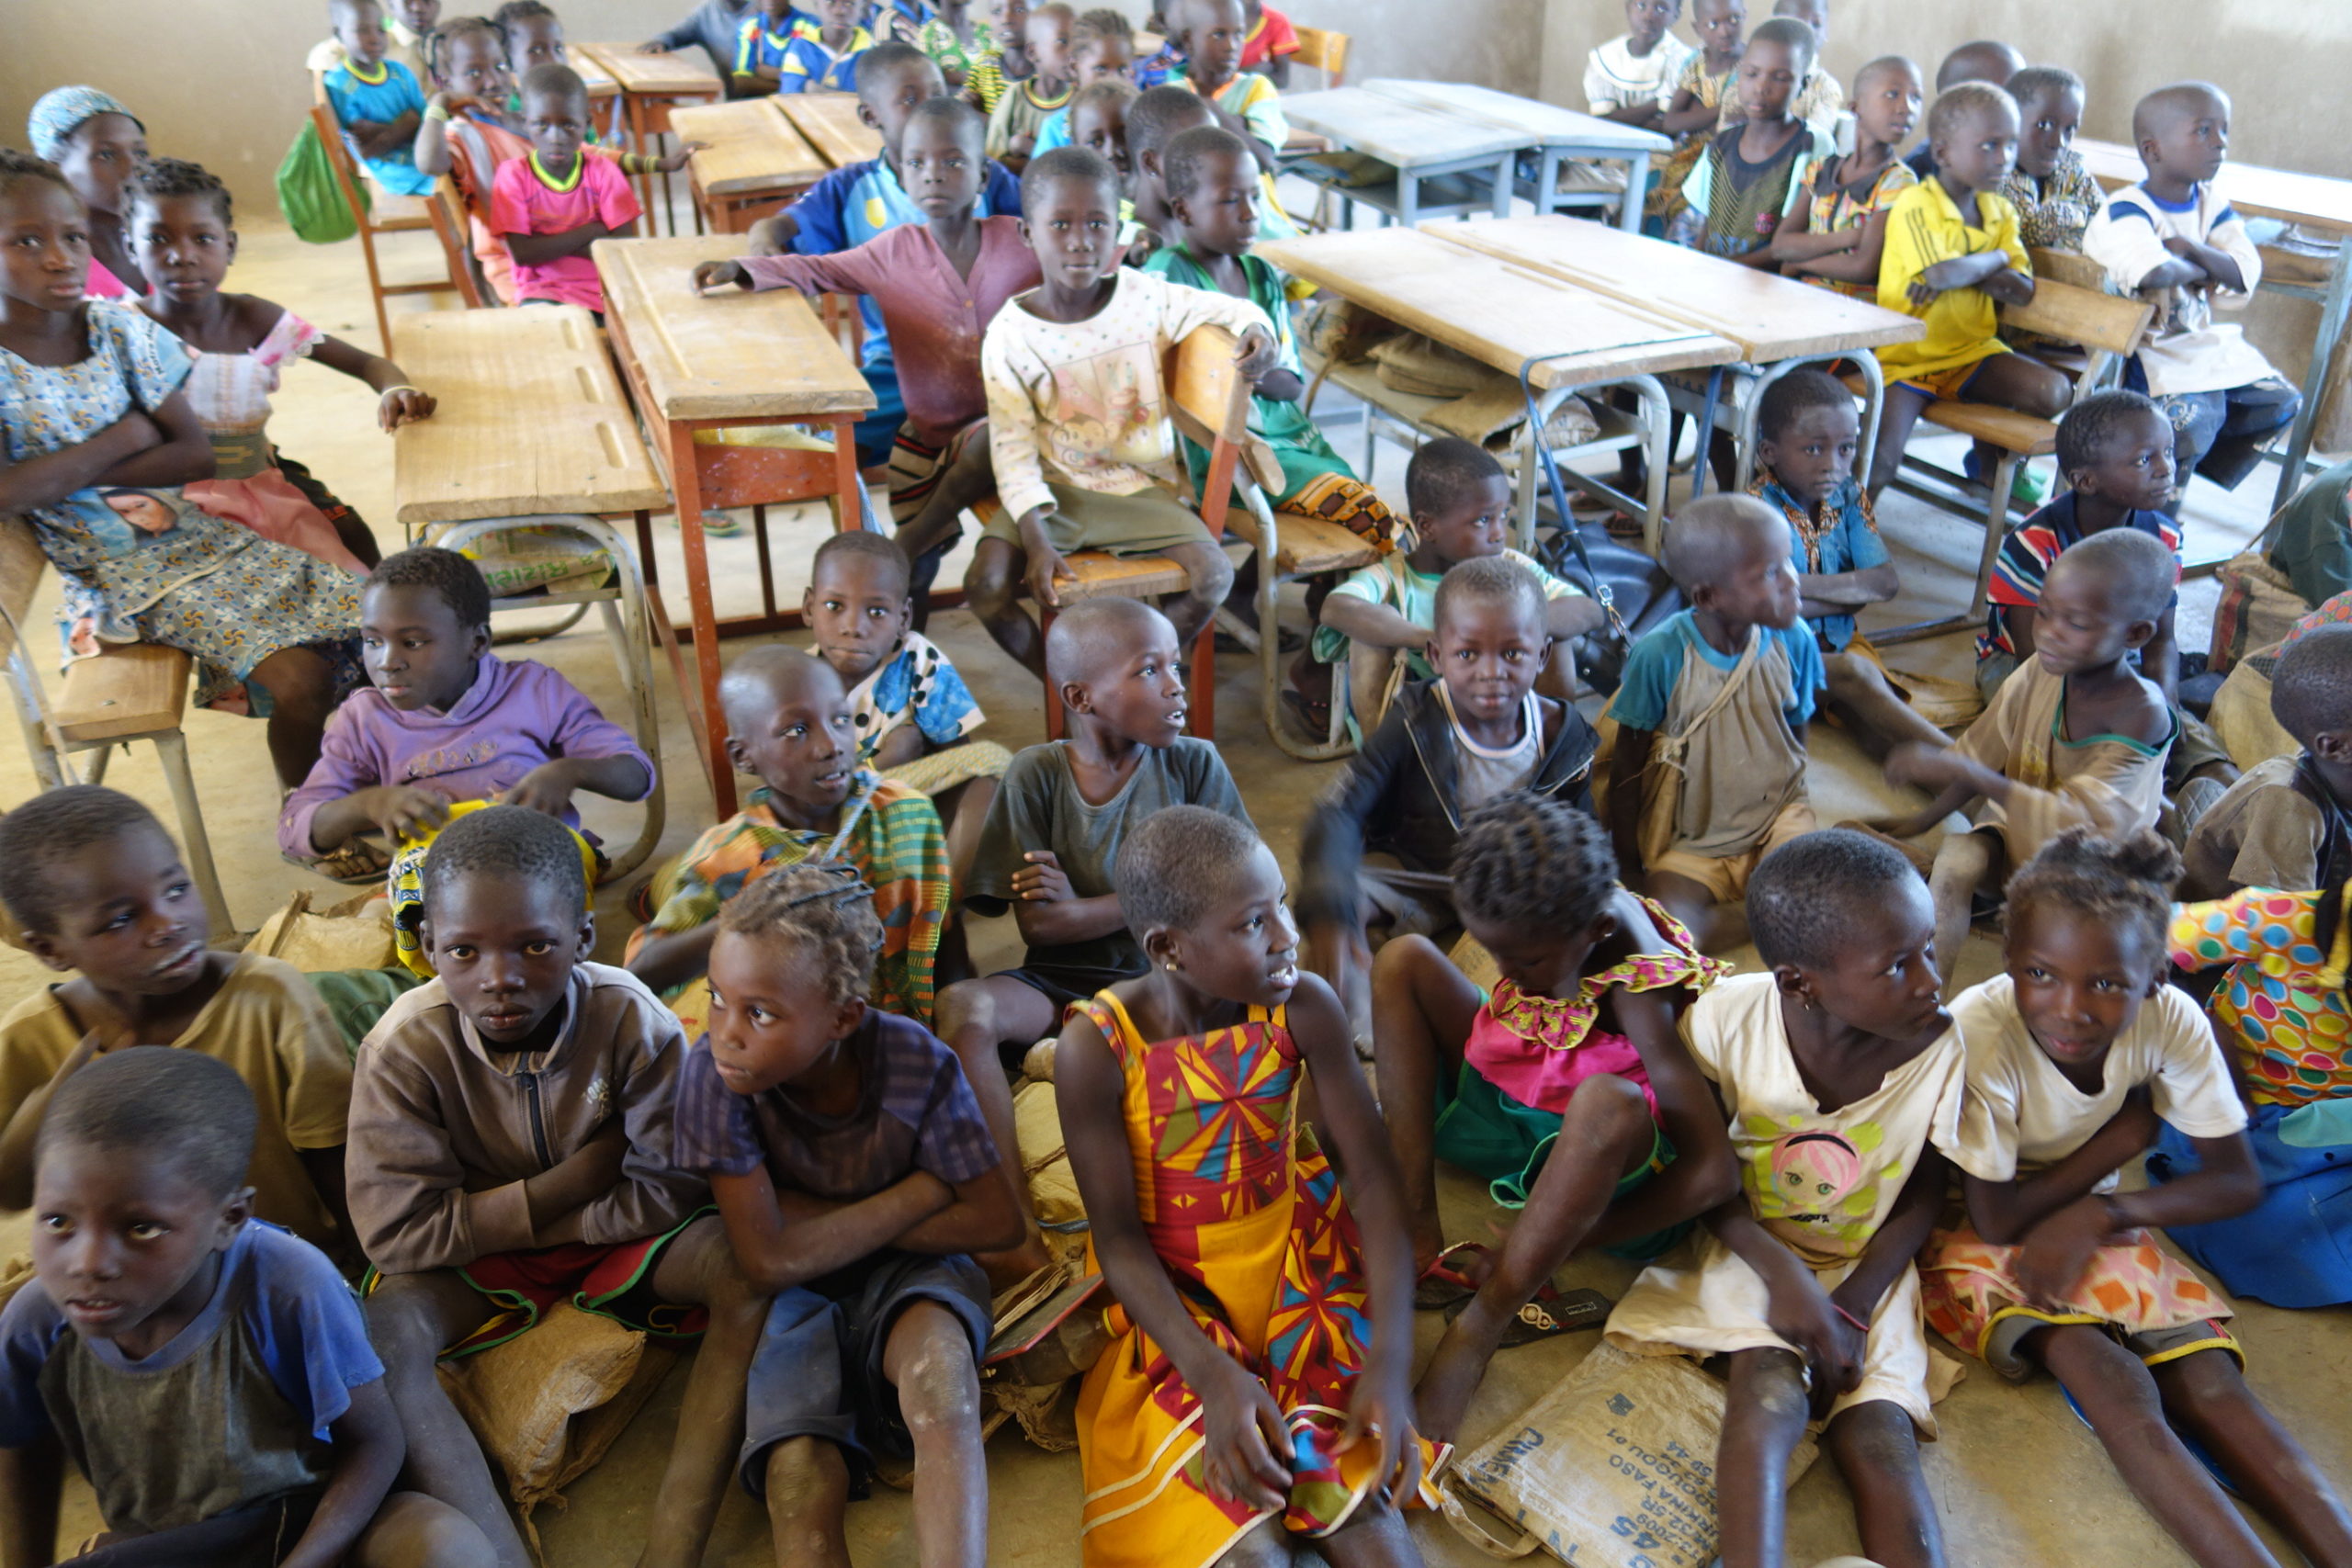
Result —
POLYGON ((129 186, 132 252, 155 292, 141 310, 195 350, 188 402, 212 437, 212 480, 181 487, 214 517, 233 517, 263 538, 308 550, 360 574, 383 559, 367 520, 268 437, 270 395, 294 360, 365 381, 376 423, 397 430, 430 418, 433 395, 397 364, 301 320, 254 294, 223 294, 238 259, 228 186, 193 162, 158 158, 129 186))

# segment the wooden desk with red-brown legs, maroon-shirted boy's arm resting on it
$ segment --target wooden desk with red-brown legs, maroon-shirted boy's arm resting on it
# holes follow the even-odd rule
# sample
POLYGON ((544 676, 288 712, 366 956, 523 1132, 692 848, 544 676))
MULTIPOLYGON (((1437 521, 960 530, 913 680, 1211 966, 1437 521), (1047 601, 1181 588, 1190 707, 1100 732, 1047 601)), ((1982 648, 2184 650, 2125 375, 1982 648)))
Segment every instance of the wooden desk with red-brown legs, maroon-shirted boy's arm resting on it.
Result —
MULTIPOLYGON (((764 103, 764 99, 762 99, 764 103)), ((757 103, 755 103, 757 106, 757 103)), ((694 113, 694 110, 684 110, 694 113)), ((776 583, 760 529, 760 588, 764 616, 720 623, 710 595, 710 557, 703 543, 703 508, 729 505, 713 494, 722 449, 696 449, 696 430, 727 425, 828 425, 830 454, 797 468, 797 494, 764 491, 760 501, 797 501, 830 494, 842 529, 863 527, 866 482, 858 477, 856 423, 875 407, 866 376, 816 320, 816 306, 797 289, 703 299, 691 273, 699 261, 734 259, 743 242, 724 235, 673 240, 597 240, 590 247, 604 280, 604 329, 637 414, 652 435, 654 456, 677 498, 677 531, 687 552, 687 597, 694 607, 696 693, 687 715, 696 726, 703 766, 720 816, 736 809, 734 764, 727 759, 727 715, 720 712, 720 635, 771 630, 776 583), (699 454, 701 451, 701 454, 699 454), (706 473, 708 463, 708 473, 706 473), (699 701, 696 701, 699 698, 699 701)), ((647 555, 652 576, 652 555, 647 555)), ((661 588, 652 585, 654 602, 661 588)))

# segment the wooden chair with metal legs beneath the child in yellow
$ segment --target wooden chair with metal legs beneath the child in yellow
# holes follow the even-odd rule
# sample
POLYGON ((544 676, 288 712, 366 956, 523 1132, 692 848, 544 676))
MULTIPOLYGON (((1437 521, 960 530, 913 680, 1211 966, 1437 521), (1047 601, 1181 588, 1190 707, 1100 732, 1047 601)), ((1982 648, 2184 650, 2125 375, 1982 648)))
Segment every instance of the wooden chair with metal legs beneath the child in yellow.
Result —
MULTIPOLYGON (((2084 367, 2074 376, 2074 397, 2084 397, 2086 393, 2096 393, 2122 360, 2138 353, 2140 339, 2147 334, 2150 320, 2154 320, 2154 306, 2143 299, 2117 299, 2098 289, 2060 282, 2063 275, 2082 277, 2084 273, 2058 252, 2034 252, 2034 296, 2023 306, 2002 306, 1999 322, 2004 334, 2034 334, 2053 343, 2079 346, 2084 350, 2084 367)), ((1985 590, 1992 585, 1992 564, 2002 557, 2002 541, 2009 536, 2011 484, 2018 463, 2058 451, 2058 425, 2053 421, 2018 414, 2016 409, 1999 409, 1987 402, 1938 397, 1919 421, 1938 430, 1966 435, 1971 442, 1985 442, 1999 451, 1999 461, 1992 468, 1992 496, 1983 503, 1985 543, 1976 564, 1976 597, 1957 616, 1915 621, 1872 632, 1870 639, 1882 646, 1957 632, 1983 621, 1985 590)), ((1903 468, 1943 482, 1940 487, 1919 484, 1917 480, 1905 480, 1898 470, 1893 487, 1903 494, 1919 496, 1964 517, 1976 515, 1976 501, 1962 475, 1912 456, 1903 458, 1903 468)), ((2058 484, 2065 484, 2065 475, 2058 475, 2058 484)))

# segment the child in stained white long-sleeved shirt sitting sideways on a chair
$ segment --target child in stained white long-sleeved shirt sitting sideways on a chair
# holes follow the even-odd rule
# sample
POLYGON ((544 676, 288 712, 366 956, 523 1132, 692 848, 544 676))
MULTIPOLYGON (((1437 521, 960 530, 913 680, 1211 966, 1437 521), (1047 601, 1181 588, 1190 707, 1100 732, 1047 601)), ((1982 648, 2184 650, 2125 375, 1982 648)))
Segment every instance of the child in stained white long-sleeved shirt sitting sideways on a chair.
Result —
POLYGON ((967 602, 997 646, 1044 675, 1018 590, 1058 609, 1065 555, 1164 555, 1185 571, 1169 621, 1190 646, 1225 602, 1232 562, 1162 489, 1178 461, 1162 362, 1197 327, 1223 327, 1240 339, 1242 376, 1258 381, 1277 367, 1272 327, 1251 303, 1122 268, 1120 181, 1087 148, 1035 160, 1021 212, 1044 282, 981 343, 1000 512, 964 574, 967 602))

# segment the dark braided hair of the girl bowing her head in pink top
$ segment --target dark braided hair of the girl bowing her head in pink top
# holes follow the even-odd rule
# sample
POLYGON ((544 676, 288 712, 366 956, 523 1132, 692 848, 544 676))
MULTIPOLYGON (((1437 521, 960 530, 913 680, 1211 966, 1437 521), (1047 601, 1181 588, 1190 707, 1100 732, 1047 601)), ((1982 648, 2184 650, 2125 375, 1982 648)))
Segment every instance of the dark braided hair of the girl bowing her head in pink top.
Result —
POLYGON ((1609 835, 1548 795, 1496 795, 1454 844, 1454 900, 1496 926, 1569 936, 1599 919, 1613 896, 1609 835))

